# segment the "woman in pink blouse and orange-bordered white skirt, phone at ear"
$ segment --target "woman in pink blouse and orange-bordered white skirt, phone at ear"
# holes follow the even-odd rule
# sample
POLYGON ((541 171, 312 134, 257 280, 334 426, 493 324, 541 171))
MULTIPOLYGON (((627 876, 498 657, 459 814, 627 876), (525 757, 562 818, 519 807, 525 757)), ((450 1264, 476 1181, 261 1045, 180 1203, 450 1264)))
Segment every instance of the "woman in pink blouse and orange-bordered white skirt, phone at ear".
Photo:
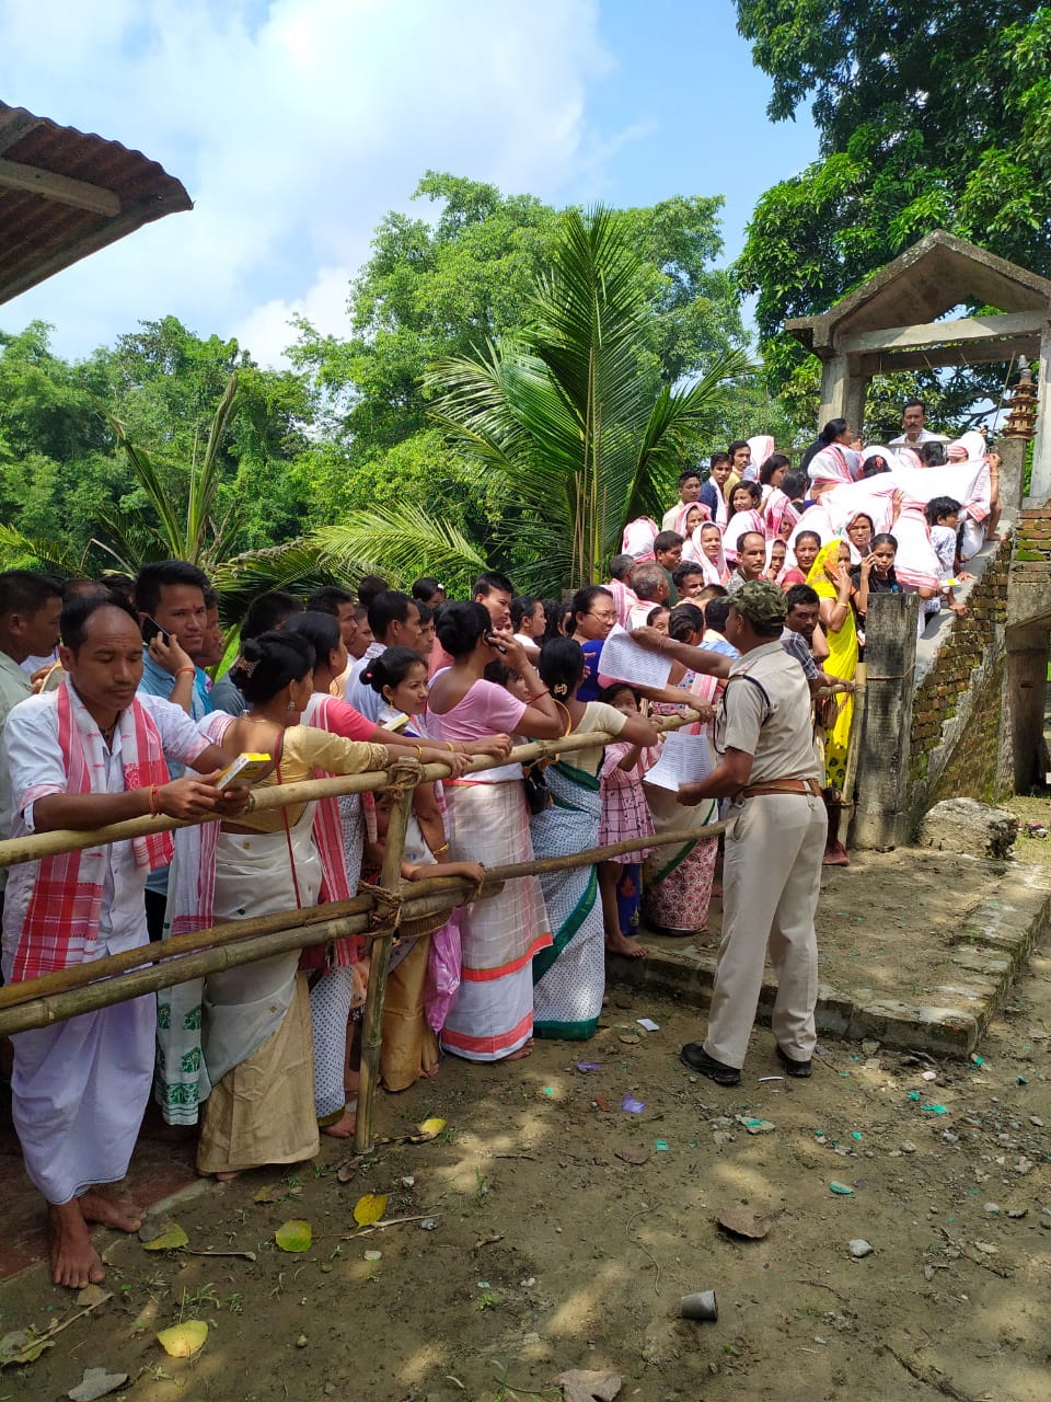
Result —
MULTIPOLYGON (((448 603, 437 624, 453 658, 432 684, 426 728, 434 740, 464 742, 506 730, 554 740, 562 722, 548 688, 520 644, 492 631, 479 603, 448 603), (485 680, 493 660, 518 672, 531 700, 485 680)), ((465 774, 446 785, 446 830, 454 861, 485 866, 530 861, 528 809, 520 764, 465 774)), ((500 1061, 533 1050, 533 956, 551 944, 535 876, 507 882, 499 899, 464 907, 462 983, 441 1046, 471 1061, 500 1061)))

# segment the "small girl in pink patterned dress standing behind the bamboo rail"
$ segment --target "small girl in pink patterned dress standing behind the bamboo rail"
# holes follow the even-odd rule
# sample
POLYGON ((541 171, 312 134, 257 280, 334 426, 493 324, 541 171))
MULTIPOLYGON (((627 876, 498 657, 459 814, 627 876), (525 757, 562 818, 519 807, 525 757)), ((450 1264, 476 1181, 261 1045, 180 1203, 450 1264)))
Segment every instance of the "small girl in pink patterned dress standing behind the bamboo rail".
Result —
MULTIPOLYGON (((639 714, 638 693, 622 681, 607 687, 600 698, 626 716, 639 714)), ((600 770, 603 816, 598 823, 598 845, 624 843, 629 837, 650 837, 653 817, 642 788, 640 749, 626 740, 607 744, 600 770)), ((649 848, 611 857, 598 864, 598 890, 603 897, 605 948, 615 955, 642 959, 649 953, 632 935, 639 927, 642 900, 642 862, 649 848)))

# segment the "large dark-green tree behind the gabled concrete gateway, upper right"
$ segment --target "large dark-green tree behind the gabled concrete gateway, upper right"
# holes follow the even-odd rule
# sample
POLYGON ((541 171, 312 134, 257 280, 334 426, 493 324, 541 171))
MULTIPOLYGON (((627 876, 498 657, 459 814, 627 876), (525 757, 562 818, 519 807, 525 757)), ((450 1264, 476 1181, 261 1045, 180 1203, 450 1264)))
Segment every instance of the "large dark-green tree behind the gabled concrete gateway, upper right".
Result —
MULTIPOLYGON (((804 352, 782 327, 933 229, 1051 272, 1051 8, 1023 0, 737 0, 774 80, 772 121, 813 100, 820 160, 760 199, 737 279, 771 384, 804 352)), ((921 376, 959 414, 998 372, 921 376)))

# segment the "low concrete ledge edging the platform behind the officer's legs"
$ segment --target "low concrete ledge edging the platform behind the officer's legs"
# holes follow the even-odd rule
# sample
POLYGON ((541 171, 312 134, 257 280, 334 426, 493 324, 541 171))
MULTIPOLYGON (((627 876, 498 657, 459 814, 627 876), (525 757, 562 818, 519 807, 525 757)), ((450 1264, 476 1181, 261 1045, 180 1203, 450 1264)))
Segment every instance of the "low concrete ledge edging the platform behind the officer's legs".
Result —
MULTIPOLYGON (((921 854, 900 852, 908 858, 921 854)), ((909 988, 909 998, 887 997, 859 983, 844 988, 818 984, 817 1029, 823 1036, 862 1040, 926 1052, 937 1057, 968 1057, 989 1025, 1038 941, 1051 925, 1051 890, 1038 868, 998 864, 981 904, 956 932, 957 942, 932 944, 926 987, 909 988)), ((835 896, 845 900, 845 892, 835 896)), ((678 1002, 706 1009, 716 959, 692 939, 673 939, 643 931, 649 959, 608 958, 612 984, 650 990, 678 1002)), ((884 935, 872 934, 880 945, 884 935)), ((758 1021, 769 1025, 776 980, 769 966, 762 980, 758 1021)))

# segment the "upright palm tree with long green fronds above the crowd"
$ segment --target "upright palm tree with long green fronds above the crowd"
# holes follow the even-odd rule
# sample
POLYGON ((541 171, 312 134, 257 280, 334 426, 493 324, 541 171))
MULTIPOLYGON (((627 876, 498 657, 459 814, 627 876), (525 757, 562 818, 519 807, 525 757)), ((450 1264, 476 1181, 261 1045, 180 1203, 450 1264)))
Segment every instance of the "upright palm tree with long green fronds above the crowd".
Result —
POLYGON ((625 522, 660 517, 727 380, 722 356, 696 383, 660 384, 647 356, 652 303, 621 216, 568 210, 518 339, 437 363, 423 379, 432 415, 507 503, 497 544, 516 576, 547 587, 591 583, 625 522))

